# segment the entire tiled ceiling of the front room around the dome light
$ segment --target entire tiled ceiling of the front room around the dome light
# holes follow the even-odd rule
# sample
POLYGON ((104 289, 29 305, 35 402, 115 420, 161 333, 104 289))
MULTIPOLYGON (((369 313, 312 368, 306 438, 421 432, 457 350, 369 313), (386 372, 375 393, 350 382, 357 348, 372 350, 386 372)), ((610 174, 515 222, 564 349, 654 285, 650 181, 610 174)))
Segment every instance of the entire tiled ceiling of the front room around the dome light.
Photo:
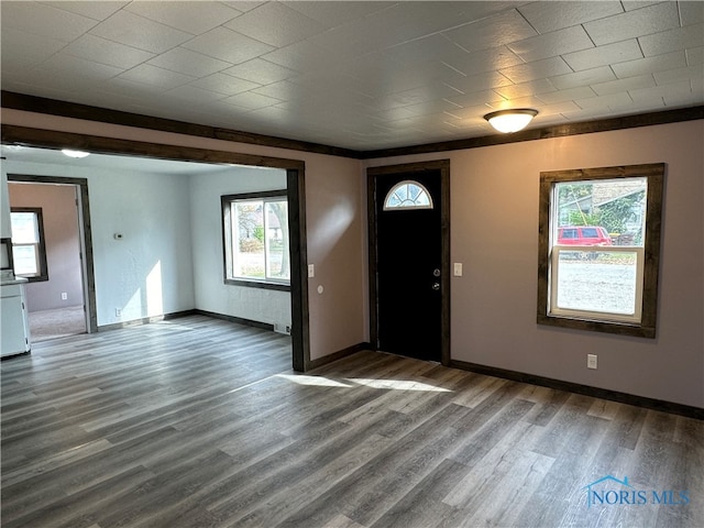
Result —
POLYGON ((1 1, 0 9, 3 89, 331 145, 486 135, 482 117, 493 108, 535 107, 537 128, 704 103, 704 2, 1 1), (672 24, 674 7, 682 28, 649 33, 672 24), (597 41, 618 42, 583 50, 594 43, 582 24, 597 41), (277 46, 304 40, 276 48, 242 33, 277 46))

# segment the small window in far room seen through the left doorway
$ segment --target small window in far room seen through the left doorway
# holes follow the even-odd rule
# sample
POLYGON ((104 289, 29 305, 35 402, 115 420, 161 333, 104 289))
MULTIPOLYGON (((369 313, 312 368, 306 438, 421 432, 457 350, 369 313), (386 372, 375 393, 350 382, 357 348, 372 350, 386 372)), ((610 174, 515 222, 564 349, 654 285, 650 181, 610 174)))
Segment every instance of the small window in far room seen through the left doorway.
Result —
POLYGON ((30 282, 48 280, 42 209, 12 208, 10 221, 14 275, 30 282))

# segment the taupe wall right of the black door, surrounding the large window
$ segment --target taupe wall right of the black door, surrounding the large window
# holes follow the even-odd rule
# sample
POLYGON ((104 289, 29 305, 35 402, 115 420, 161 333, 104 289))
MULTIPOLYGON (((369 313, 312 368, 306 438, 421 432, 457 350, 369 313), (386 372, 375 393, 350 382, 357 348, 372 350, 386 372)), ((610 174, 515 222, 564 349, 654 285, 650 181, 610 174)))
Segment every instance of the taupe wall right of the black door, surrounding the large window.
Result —
POLYGON ((452 359, 704 407, 704 121, 369 165, 451 160, 452 359), (536 323, 541 170, 667 164, 658 337, 536 323), (598 369, 586 369, 586 354, 598 369))

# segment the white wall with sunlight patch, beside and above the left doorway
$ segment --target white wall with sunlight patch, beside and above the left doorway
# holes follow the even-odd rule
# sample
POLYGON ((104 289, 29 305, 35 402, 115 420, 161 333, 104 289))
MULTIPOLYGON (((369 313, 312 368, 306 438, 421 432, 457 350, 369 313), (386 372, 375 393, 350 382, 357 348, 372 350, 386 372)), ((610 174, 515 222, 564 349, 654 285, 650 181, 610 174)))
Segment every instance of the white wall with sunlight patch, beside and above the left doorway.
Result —
POLYGON ((3 163, 10 174, 88 180, 99 327, 194 308, 188 176, 3 163))

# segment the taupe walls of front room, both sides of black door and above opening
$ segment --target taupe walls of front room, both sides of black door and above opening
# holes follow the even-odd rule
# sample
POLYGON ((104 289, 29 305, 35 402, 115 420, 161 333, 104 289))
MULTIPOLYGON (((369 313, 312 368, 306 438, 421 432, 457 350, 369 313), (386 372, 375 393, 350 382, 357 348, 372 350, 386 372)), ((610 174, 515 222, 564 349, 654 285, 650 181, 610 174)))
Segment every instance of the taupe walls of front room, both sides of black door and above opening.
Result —
POLYGON ((452 279, 454 360, 704 408, 702 120, 365 163, 7 109, 3 121, 305 161, 308 261, 317 273, 308 292, 311 359, 369 340, 365 163, 449 157, 451 260, 464 264, 464 276, 452 279), (540 172, 658 162, 668 164, 658 338, 538 326, 540 172), (598 354, 598 370, 586 369, 587 353, 598 354))

